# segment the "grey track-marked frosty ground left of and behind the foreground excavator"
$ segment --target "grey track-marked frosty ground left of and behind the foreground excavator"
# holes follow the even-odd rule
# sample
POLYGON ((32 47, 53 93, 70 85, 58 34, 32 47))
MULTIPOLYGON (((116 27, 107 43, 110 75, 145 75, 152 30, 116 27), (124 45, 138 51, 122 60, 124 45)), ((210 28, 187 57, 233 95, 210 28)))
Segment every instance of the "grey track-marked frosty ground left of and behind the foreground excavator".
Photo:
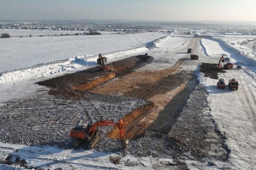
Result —
POLYGON ((117 121, 126 113, 148 103, 143 99, 106 94, 83 95, 84 98, 80 100, 66 100, 64 96, 48 95, 45 92, 0 107, 0 141, 74 148, 69 130, 76 124, 89 124, 100 118, 117 121))

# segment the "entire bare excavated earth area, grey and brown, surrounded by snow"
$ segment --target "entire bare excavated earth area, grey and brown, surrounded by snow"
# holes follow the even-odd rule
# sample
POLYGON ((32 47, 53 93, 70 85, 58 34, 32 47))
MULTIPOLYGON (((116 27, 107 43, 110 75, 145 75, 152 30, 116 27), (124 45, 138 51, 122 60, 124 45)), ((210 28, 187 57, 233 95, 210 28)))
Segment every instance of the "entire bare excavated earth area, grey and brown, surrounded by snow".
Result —
MULTIPOLYGON (((125 138, 130 140, 127 147, 121 148, 117 129, 100 127, 102 136, 96 151, 173 157, 173 163, 159 165, 170 169, 187 169, 184 159, 225 161, 229 153, 225 136, 218 131, 207 92, 197 81, 199 71, 218 79, 221 70, 211 63, 201 63, 199 70, 183 67, 196 62, 188 55, 169 68, 142 69, 153 59, 149 55, 131 56, 109 63, 108 71, 98 66, 39 81, 49 90, 0 108, 0 141, 78 149, 69 136, 72 127, 122 118, 125 138)), ((79 148, 88 149, 87 144, 79 148)), ((8 163, 7 158, 1 161, 8 163)), ((137 165, 134 161, 126 163, 137 165)))

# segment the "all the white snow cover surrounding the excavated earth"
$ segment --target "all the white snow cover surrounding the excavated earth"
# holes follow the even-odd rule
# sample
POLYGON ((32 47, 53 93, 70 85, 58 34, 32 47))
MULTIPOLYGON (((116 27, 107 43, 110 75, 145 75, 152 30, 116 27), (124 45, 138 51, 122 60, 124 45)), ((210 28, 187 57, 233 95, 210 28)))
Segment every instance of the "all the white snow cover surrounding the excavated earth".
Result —
MULTIPOLYGON (((12 34, 12 30, 7 33, 12 34)), ((15 34, 17 35, 17 31, 15 34)), ((32 95, 37 88, 42 88, 34 84, 35 81, 96 66, 98 53, 106 56, 109 62, 146 52, 161 58, 162 53, 184 46, 190 38, 191 36, 183 34, 168 35, 161 32, 1 38, 0 105, 15 98, 32 95)), ((221 133, 227 137, 230 156, 227 162, 215 161, 216 166, 208 166, 207 162, 186 160, 190 169, 256 169, 256 57, 253 48, 256 39, 253 39, 252 35, 213 35, 201 39, 201 46, 198 49, 201 55, 198 62, 209 60, 217 63, 221 55, 224 55, 225 62, 232 62, 235 66, 241 65, 242 69, 233 68, 219 74, 226 82, 235 77, 239 81, 237 91, 218 89, 216 79, 198 73, 200 83, 204 84, 208 92, 207 100, 212 117, 221 133), (247 43, 237 43, 243 41, 247 43)), ((170 58, 161 59, 175 63, 180 55, 174 55, 171 61, 170 58)), ((149 65, 155 69, 162 69, 171 64, 163 62, 161 66, 159 63, 149 65)), ((152 164, 156 161, 152 157, 122 157, 122 160, 136 160, 144 165, 127 168, 122 164, 123 161, 118 165, 109 161, 110 155, 118 156, 118 153, 109 155, 93 150, 74 151, 53 146, 26 147, 0 143, 2 152, 12 152, 20 148, 23 149, 17 152, 17 155, 27 156, 28 160, 33 156, 37 157, 37 162, 28 163, 39 167, 47 165, 48 158, 82 164, 83 158, 87 157, 91 159, 91 169, 154 169, 152 164), (6 148, 9 150, 5 150, 6 148)), ((4 156, 0 158, 5 159, 4 156)), ((161 161, 172 161, 172 158, 163 157, 159 160, 161 161)), ((57 167, 72 169, 61 161, 49 166, 52 169, 57 167)), ((12 169, 3 164, 0 164, 1 168, 12 169)))

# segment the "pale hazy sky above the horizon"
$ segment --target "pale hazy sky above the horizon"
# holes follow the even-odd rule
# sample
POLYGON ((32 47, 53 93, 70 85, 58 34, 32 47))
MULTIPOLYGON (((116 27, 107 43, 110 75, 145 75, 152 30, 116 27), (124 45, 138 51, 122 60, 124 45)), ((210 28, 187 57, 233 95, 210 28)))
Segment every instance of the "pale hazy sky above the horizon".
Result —
POLYGON ((256 0, 0 0, 0 20, 256 21, 256 0))

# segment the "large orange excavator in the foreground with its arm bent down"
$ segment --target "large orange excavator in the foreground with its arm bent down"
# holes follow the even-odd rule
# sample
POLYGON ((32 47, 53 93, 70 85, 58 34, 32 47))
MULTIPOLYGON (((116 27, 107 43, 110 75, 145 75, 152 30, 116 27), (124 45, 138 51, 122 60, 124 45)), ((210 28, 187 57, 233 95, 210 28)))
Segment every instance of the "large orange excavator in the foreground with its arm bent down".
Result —
POLYGON ((94 148, 100 138, 100 132, 98 131, 98 126, 117 126, 119 129, 119 137, 121 140, 121 146, 124 149, 129 140, 124 138, 124 126, 122 119, 119 119, 118 122, 113 122, 113 120, 100 120, 92 125, 81 126, 78 125, 70 130, 70 137, 77 138, 75 146, 79 146, 82 142, 89 142, 88 147, 90 149, 94 148))

